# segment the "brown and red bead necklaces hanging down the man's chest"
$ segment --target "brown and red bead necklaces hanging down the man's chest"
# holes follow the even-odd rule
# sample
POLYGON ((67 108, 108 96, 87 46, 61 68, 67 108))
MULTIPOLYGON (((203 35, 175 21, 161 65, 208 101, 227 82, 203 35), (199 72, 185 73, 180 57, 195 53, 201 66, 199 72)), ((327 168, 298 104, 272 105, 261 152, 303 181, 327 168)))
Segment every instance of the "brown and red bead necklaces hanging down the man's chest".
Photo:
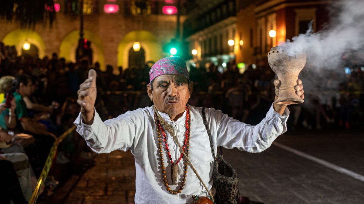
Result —
MULTIPOLYGON (((190 130, 190 126, 191 126, 191 121, 190 121, 190 110, 189 110, 189 107, 188 107, 188 105, 186 105, 186 134, 185 134, 185 140, 184 140, 184 143, 183 143, 183 152, 185 152, 186 153, 186 155, 188 155, 189 154, 189 150, 190 150, 190 132, 191 132, 191 130, 190 130), (185 151, 185 147, 187 147, 186 148, 186 151, 185 151)), ((167 137, 166 137, 166 133, 164 132, 164 129, 163 129, 163 127, 162 127, 162 125, 161 125, 161 120, 159 120, 158 118, 160 118, 161 120, 163 120, 162 119, 162 117, 161 116, 159 116, 158 115, 158 113, 157 113, 157 110, 154 108, 154 120, 155 120, 155 126, 156 126, 156 128, 157 128, 157 137, 158 137, 158 145, 157 145, 157 147, 158 147, 158 153, 160 153, 160 157, 161 157, 161 169, 162 169, 162 180, 163 180, 163 182, 164 182, 164 185, 165 185, 165 187, 166 187, 166 190, 167 191, 169 191, 171 194, 174 194, 174 195, 177 195, 178 193, 181 193, 182 192, 182 190, 183 190, 183 188, 184 188, 184 185, 186 185, 186 183, 185 183, 185 181, 186 181, 186 177, 187 177, 187 169, 188 169, 188 167, 187 167, 187 165, 188 165, 188 163, 187 163, 187 161, 185 161, 185 163, 184 163, 184 167, 183 167, 183 169, 184 169, 184 172, 183 172, 183 179, 182 179, 182 183, 181 183, 181 186, 179 187, 179 189, 177 190, 171 190, 171 187, 169 187, 169 184, 168 184, 168 180, 167 180, 167 175, 166 175, 166 167, 164 166, 164 159, 163 159, 163 150, 162 150, 162 136, 161 136, 161 134, 163 135, 163 141, 164 141, 164 143, 165 143, 165 146, 166 146, 166 152, 167 152, 167 154, 168 154, 168 158, 169 158, 169 160, 170 160, 170 162, 171 162, 171 164, 172 164, 172 167, 171 167, 171 179, 172 179, 172 185, 177 185, 177 171, 178 171, 178 167, 177 167, 177 165, 178 165, 178 163, 179 163, 179 161, 181 161, 181 159, 182 159, 182 157, 183 157, 183 153, 181 153, 181 156, 179 157, 179 159, 177 160, 177 161, 175 161, 175 162, 173 162, 173 159, 172 159, 172 156, 171 156, 171 154, 170 154, 170 152, 169 152, 169 147, 168 147, 168 143, 167 143, 167 137)), ((164 122, 164 121, 163 121, 164 122)), ((173 131, 171 131, 170 132, 171 134, 174 134, 174 132, 173 131)))

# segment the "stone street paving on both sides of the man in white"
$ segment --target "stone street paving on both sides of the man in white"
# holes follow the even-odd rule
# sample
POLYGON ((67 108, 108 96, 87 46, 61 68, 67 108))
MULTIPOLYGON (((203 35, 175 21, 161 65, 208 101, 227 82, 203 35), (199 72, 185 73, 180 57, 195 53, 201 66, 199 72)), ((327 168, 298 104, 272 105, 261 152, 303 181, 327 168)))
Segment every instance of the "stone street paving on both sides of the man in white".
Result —
MULTIPOLYGON (((291 147, 295 146, 293 141, 301 141, 303 145, 301 149, 294 148, 362 173, 356 170, 362 169, 364 164, 356 163, 355 158, 359 157, 357 159, 361 161, 364 151, 357 148, 350 153, 348 152, 349 147, 345 146, 343 148, 348 152, 345 160, 345 156, 335 156, 336 153, 325 146, 317 147, 318 149, 314 151, 309 146, 310 144, 318 143, 319 140, 323 145, 329 144, 327 141, 315 137, 282 135, 278 137, 277 141, 291 147), (327 152, 324 153, 325 151, 327 152), (316 153, 319 155, 314 155, 316 153), (357 156, 355 157, 355 155, 357 156), (324 156, 327 158, 323 158, 324 156), (329 160, 331 157, 337 160, 337 163, 335 160, 329 160), (348 165, 344 166, 345 163, 348 165), (354 165, 357 166, 357 169, 350 168, 354 165)), ((335 140, 338 141, 338 144, 343 145, 344 143, 338 138, 335 140)), ((347 140, 346 138, 346 136, 343 137, 347 140)), ((361 136, 357 138, 361 138, 361 136)), ((363 143, 358 145, 360 144, 363 143)), ((330 146, 332 145, 330 144, 330 146)), ((261 153, 247 153, 237 149, 224 149, 223 153, 224 158, 238 171, 241 195, 249 197, 250 200, 265 204, 364 204, 363 181, 274 145, 261 153)), ((134 203, 135 166, 134 157, 130 151, 99 154, 95 160, 96 165, 83 175, 65 203, 134 203)))

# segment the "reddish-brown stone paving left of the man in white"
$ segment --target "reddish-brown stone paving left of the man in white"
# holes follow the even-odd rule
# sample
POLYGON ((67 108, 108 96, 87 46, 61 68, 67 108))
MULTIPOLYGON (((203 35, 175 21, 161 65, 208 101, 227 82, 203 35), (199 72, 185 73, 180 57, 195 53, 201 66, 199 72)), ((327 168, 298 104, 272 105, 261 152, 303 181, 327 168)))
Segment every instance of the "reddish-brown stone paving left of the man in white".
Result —
POLYGON ((135 194, 135 164, 130 151, 98 154, 72 189, 67 204, 131 204, 135 194))

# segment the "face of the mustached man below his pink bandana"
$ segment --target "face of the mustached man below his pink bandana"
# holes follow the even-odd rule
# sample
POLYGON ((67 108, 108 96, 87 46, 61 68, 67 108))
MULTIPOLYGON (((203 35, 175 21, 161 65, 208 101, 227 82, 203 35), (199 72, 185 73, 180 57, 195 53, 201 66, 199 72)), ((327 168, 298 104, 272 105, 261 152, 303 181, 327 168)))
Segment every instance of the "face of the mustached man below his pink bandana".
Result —
POLYGON ((147 91, 158 111, 175 119, 175 116, 185 111, 193 91, 193 83, 189 86, 186 77, 181 75, 161 75, 154 79, 153 84, 147 85, 147 91))

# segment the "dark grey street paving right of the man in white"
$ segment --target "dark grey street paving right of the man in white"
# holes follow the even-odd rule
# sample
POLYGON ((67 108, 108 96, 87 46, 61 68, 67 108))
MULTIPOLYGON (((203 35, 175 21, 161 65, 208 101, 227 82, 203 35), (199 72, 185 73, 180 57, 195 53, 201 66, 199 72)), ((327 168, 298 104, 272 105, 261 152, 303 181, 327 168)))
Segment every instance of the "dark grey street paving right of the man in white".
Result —
MULTIPOLYGON (((311 143, 309 141, 306 143, 314 144, 316 140, 323 140, 319 139, 318 136, 320 135, 316 135, 316 139, 312 139, 311 143)), ((292 138, 292 135, 282 135, 278 137, 277 141, 289 143, 288 140, 303 139, 303 136, 302 138, 297 136, 292 138)), ((310 140, 309 138, 305 139, 310 140)), ((329 145, 330 143, 326 144, 329 145)), ((344 149, 350 147, 345 147, 343 143, 340 144, 344 149)), ((363 143, 360 144, 363 145, 363 143)), ((301 147, 301 149, 315 152, 308 145, 301 147)), ((322 156, 322 152, 328 149, 321 146, 321 149, 316 152, 320 152, 320 156, 322 156)), ((226 149, 223 153, 224 158, 238 171, 240 194, 249 197, 250 200, 266 204, 364 204, 363 181, 294 155, 274 145, 261 153, 247 153, 237 149, 226 149)), ((357 157, 363 153, 363 150, 357 152, 357 157)), ((335 151, 327 151, 325 155, 327 157, 331 155, 337 159, 336 154, 335 151)), ((364 166, 363 163, 358 163, 354 157, 350 159, 349 156, 353 155, 348 154, 346 159, 346 163, 350 164, 348 166, 355 164, 364 166)), ((340 165, 344 161, 330 162, 340 165)))

